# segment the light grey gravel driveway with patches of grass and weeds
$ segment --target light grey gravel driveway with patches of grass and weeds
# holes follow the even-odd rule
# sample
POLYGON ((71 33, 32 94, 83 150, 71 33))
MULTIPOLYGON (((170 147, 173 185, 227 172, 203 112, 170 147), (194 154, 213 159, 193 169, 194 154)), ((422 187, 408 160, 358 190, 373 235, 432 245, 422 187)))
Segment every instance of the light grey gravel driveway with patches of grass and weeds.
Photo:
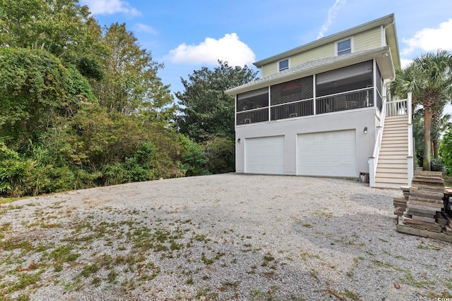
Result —
POLYGON ((452 297, 452 244, 397 233, 396 195, 230 173, 3 204, 0 300, 452 297))

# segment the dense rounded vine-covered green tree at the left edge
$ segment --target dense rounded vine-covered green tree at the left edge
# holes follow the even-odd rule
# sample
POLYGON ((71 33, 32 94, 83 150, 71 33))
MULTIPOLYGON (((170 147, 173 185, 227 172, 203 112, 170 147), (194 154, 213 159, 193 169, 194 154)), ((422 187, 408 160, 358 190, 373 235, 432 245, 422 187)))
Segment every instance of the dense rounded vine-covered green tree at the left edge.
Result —
POLYGON ((16 145, 35 140, 81 102, 95 102, 88 81, 47 51, 0 48, 0 137, 16 145))

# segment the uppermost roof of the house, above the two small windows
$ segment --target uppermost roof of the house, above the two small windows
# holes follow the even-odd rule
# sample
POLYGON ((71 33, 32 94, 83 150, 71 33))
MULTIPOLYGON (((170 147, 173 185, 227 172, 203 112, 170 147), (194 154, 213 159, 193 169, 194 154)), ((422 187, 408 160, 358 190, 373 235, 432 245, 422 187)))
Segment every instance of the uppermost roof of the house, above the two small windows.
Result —
POLYGON ((327 37, 322 37, 321 39, 317 39, 314 42, 310 42, 308 44, 304 44, 302 46, 296 47, 294 49, 290 49, 288 51, 282 52, 280 54, 276 54, 275 56, 270 56, 268 59, 263 59, 261 61, 256 61, 254 66, 257 68, 261 68, 263 65, 268 63, 273 63, 275 61, 280 61, 282 59, 287 59, 287 57, 293 56, 295 54, 299 54, 301 52, 307 51, 309 49, 314 49, 316 47, 320 47, 325 44, 329 44, 340 39, 345 39, 346 37, 350 37, 351 35, 356 35, 359 32, 364 32, 370 30, 375 27, 385 26, 388 32, 386 35, 388 36, 386 42, 391 47, 393 51, 393 63, 396 68, 400 68, 400 58, 398 56, 398 39, 396 33, 396 20, 394 18, 394 14, 391 13, 388 16, 384 16, 382 18, 372 20, 368 23, 364 23, 362 25, 358 25, 356 27, 352 27, 348 30, 344 30, 342 32, 335 33, 333 35, 328 35, 327 37))

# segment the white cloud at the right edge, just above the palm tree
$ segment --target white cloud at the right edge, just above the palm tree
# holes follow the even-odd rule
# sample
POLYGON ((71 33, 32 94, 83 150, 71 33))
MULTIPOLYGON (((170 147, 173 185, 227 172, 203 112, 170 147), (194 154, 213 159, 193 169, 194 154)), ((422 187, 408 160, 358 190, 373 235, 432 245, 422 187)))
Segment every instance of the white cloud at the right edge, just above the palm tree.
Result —
POLYGON ((422 51, 436 51, 437 49, 452 50, 452 19, 443 22, 437 28, 424 28, 415 33, 410 39, 403 39, 408 45, 402 55, 411 54, 415 49, 422 51))

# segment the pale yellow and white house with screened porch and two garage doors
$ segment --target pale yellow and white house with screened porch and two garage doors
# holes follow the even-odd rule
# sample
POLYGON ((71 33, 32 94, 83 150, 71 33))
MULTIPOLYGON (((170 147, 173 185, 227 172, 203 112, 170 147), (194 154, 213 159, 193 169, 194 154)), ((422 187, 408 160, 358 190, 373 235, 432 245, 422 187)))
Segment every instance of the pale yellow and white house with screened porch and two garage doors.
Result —
POLYGON ((386 105, 400 68, 393 14, 254 65, 260 79, 226 91, 236 104, 237 173, 410 183, 408 101, 386 105))

